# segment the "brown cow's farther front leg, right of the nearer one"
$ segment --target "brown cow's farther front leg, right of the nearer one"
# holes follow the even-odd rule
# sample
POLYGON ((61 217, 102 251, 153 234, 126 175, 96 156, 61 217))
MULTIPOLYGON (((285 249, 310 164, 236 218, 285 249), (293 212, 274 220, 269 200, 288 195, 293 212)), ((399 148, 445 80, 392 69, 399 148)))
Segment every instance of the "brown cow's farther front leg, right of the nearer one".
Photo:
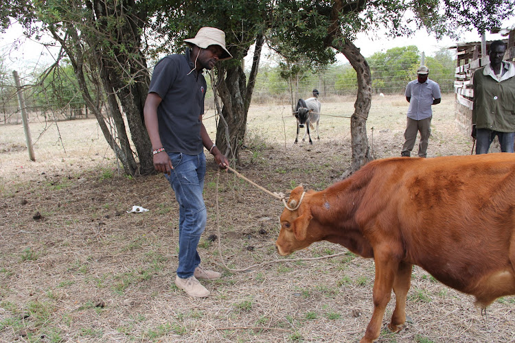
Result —
POLYGON ((406 297, 411 285, 411 264, 401 262, 393 281, 393 292, 396 294, 396 308, 393 310, 388 329, 398 332, 406 321, 406 297))

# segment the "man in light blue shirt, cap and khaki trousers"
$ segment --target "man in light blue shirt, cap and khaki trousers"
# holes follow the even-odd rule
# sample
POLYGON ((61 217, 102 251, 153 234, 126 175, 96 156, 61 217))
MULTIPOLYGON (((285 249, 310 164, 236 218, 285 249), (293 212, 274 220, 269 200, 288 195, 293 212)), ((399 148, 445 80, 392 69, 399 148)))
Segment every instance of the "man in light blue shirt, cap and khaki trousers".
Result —
POLYGON ((417 70, 417 80, 413 80, 406 86, 406 99, 409 102, 406 131, 404 132, 404 145, 400 152, 401 156, 409 157, 417 139, 417 132, 420 132, 420 143, 418 145, 418 156, 427 156, 427 146, 431 135, 431 119, 433 110, 431 106, 442 101, 440 86, 433 80, 429 80, 429 69, 420 66, 417 70))

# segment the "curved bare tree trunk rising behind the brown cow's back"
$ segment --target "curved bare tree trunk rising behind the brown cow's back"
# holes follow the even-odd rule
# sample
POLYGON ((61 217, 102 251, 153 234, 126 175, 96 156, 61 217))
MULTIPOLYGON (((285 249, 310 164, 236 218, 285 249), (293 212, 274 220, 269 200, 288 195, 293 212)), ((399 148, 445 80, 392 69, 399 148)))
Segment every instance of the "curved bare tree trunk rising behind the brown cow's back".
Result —
POLYGON ((341 178, 345 178, 371 160, 367 139, 367 119, 372 97, 372 81, 368 62, 361 55, 358 47, 343 36, 340 35, 340 37, 333 40, 332 47, 345 55, 356 70, 358 78, 358 96, 354 103, 354 114, 350 123, 352 162, 350 170, 345 171, 341 176, 341 178))

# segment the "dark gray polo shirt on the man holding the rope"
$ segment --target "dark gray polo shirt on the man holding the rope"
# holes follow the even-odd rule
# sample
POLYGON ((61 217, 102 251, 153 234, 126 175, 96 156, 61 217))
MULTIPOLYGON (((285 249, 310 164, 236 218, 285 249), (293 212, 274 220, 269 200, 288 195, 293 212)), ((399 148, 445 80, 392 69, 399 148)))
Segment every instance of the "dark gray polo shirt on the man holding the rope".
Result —
POLYGON ((192 69, 194 64, 187 48, 185 55, 169 55, 157 62, 152 73, 148 93, 157 93, 162 99, 157 119, 166 152, 203 152, 198 116, 204 113, 207 86, 204 75, 192 69))

